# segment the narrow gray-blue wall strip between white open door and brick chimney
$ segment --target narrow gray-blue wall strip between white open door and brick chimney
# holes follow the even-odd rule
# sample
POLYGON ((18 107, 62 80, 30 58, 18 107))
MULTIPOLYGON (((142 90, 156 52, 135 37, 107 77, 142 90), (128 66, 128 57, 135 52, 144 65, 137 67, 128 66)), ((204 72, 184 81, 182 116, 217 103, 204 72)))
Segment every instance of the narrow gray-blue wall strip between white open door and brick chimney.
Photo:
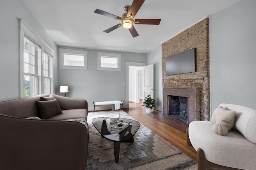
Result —
POLYGON ((162 86, 162 45, 159 45, 147 53, 147 65, 154 64, 154 99, 156 110, 163 108, 163 86, 162 86))

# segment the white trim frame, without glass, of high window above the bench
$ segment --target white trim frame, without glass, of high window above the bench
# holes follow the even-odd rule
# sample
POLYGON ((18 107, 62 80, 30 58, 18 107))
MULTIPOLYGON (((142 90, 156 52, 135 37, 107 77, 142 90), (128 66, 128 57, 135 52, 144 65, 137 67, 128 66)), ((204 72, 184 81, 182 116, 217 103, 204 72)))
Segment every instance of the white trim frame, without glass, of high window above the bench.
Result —
POLYGON ((122 54, 118 54, 118 53, 98 52, 98 68, 97 69, 102 71, 121 71, 121 55, 122 54), (118 68, 101 67, 101 57, 118 59, 118 68))

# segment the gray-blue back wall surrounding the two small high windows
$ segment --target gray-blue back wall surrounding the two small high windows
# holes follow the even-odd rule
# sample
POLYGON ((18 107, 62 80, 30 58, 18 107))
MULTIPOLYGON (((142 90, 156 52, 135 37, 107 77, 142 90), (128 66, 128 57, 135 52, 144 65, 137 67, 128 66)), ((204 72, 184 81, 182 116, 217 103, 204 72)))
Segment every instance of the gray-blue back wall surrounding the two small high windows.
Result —
MULTIPOLYGON (((113 101, 126 99, 126 62, 146 63, 145 53, 129 53, 119 51, 100 51, 108 53, 121 53, 121 71, 98 71, 96 49, 81 49, 62 47, 88 51, 88 70, 58 69, 58 82, 60 85, 68 85, 67 97, 86 99, 88 110, 93 111, 93 103, 96 101, 113 101)), ((61 95, 61 93, 58 93, 61 95)), ((127 107, 128 101, 124 102, 127 107)), ((111 107, 96 107, 95 110, 111 109, 111 107)))

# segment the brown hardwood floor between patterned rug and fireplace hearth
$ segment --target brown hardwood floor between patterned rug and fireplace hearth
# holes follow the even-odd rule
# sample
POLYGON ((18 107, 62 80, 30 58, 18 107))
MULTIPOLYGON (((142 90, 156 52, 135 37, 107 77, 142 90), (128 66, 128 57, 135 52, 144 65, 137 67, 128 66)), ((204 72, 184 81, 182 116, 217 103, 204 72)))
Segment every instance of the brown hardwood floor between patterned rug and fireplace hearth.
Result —
MULTIPOLYGON (((129 108, 123 110, 197 162, 197 152, 192 146, 186 144, 186 134, 147 115, 145 108, 142 107, 142 102, 129 102, 129 108)), ((153 110, 152 113, 159 116, 161 112, 153 110)))

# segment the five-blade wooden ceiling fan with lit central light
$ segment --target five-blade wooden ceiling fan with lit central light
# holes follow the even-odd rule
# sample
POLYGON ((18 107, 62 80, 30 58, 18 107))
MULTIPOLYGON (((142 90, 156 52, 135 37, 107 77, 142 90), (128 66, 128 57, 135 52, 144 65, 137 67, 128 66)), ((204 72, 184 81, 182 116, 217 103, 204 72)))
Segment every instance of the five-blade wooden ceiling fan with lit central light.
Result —
POLYGON ((124 28, 128 29, 130 33, 132 34, 133 37, 137 37, 139 34, 135 30, 133 23, 134 24, 150 24, 150 25, 159 25, 161 19, 133 19, 134 16, 137 14, 138 10, 142 6, 145 0, 134 0, 132 2, 132 5, 126 5, 124 6, 124 11, 125 13, 122 15, 122 17, 110 14, 108 12, 96 9, 94 12, 97 14, 101 14, 104 16, 108 16, 110 18, 114 18, 116 20, 121 20, 122 24, 117 24, 111 28, 108 28, 104 32, 109 33, 116 28, 119 28, 120 26, 123 26, 124 28))

